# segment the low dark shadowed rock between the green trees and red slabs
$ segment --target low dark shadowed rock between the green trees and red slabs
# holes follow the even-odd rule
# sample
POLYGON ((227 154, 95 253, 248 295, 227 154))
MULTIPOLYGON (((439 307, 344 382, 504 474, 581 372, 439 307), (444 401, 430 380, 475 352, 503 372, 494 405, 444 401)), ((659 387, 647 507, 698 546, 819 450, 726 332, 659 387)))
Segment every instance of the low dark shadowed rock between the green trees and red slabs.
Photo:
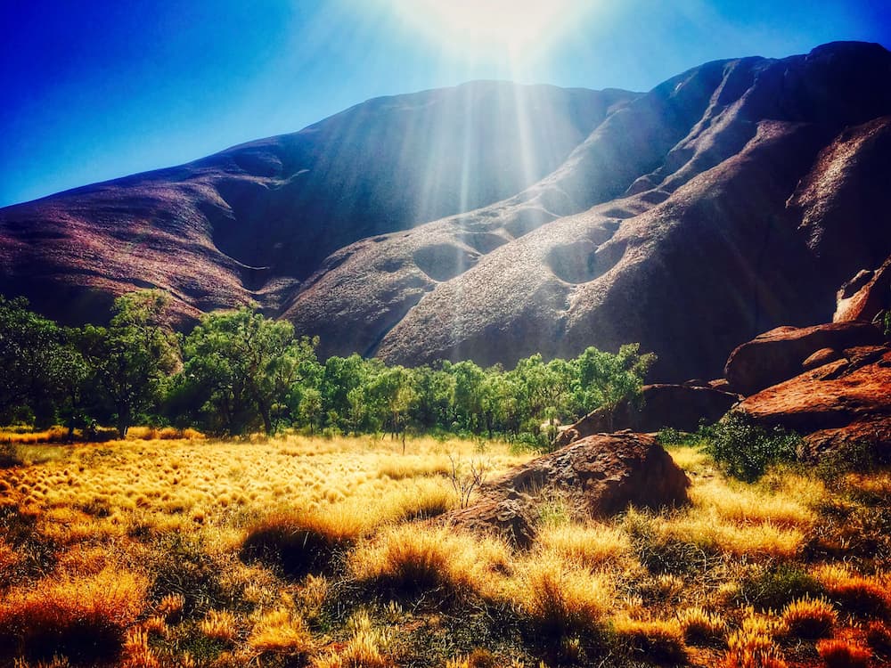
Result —
POLYGON ((742 397, 698 385, 645 385, 638 402, 621 403, 615 412, 592 411, 560 432, 555 445, 612 431, 653 432, 661 428, 696 431, 701 421, 720 420, 742 397))

